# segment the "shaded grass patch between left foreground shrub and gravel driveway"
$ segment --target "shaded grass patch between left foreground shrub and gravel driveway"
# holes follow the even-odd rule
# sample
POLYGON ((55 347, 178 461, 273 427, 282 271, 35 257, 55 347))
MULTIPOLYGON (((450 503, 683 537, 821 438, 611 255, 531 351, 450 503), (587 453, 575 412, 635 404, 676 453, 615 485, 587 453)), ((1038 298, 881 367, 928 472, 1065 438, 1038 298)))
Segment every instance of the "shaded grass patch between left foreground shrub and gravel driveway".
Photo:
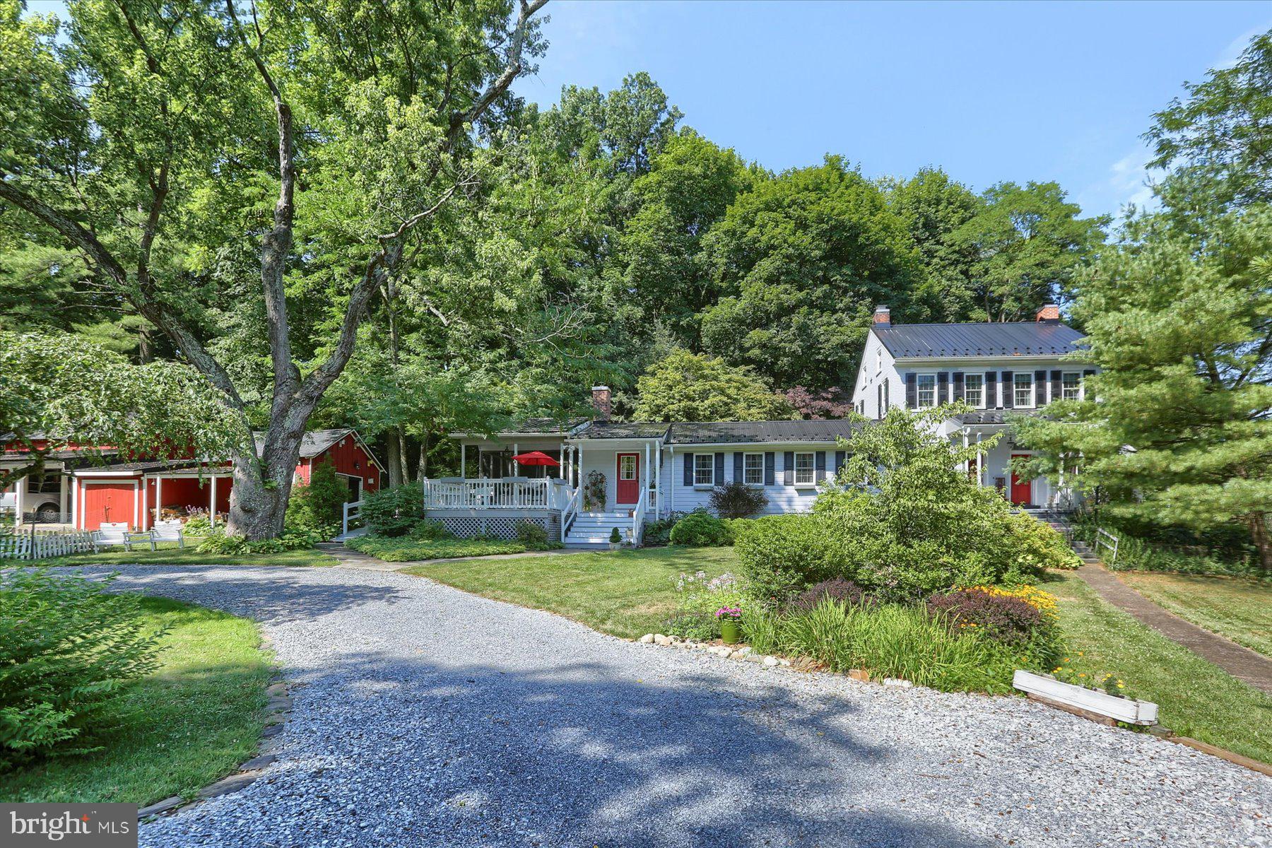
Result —
POLYGON ((162 598, 142 599, 167 627, 160 667, 107 706, 103 749, 64 755, 4 777, 0 800, 128 802, 192 797, 257 750, 265 727, 270 656, 256 624, 162 598))

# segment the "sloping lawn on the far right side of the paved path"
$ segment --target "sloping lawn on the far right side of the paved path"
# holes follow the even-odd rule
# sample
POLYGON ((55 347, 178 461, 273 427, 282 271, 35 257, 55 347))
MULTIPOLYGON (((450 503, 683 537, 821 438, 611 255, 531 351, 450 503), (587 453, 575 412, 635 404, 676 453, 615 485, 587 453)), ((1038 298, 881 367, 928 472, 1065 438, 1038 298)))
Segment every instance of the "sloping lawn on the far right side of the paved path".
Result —
POLYGON ((1272 584, 1140 571, 1118 577, 1179 618, 1272 656, 1272 584))

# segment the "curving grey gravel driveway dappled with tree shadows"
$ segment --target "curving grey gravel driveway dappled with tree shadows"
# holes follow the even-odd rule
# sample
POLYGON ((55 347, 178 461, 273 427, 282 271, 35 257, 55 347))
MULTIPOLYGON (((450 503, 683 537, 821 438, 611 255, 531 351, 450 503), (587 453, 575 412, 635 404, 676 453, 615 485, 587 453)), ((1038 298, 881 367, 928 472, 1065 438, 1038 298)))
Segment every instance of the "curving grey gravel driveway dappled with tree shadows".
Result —
POLYGON ((295 699, 261 779, 142 845, 1272 844, 1272 779, 1019 698, 623 642, 397 573, 122 571, 262 622, 295 699))

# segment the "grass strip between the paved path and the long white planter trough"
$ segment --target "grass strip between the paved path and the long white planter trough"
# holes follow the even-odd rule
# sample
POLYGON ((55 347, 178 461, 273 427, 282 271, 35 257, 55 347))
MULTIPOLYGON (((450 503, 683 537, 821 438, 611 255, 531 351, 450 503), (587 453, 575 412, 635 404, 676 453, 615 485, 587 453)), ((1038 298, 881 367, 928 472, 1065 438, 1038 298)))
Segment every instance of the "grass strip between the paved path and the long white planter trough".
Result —
POLYGON ((1182 736, 1272 763, 1272 697, 1108 604, 1076 575, 1052 575, 1042 587, 1060 598, 1066 665, 1126 680, 1182 736))

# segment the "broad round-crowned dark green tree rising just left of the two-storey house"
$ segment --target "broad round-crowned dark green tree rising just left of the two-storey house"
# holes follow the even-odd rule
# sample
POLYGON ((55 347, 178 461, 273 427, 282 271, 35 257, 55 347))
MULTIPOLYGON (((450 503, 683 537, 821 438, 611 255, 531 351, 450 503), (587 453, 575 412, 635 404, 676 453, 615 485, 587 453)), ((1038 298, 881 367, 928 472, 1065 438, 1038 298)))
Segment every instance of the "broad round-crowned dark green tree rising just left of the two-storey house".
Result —
POLYGON ((837 156, 740 195, 705 249, 725 296, 702 318, 703 348, 776 385, 846 383, 875 305, 907 315, 921 278, 883 192, 837 156))

